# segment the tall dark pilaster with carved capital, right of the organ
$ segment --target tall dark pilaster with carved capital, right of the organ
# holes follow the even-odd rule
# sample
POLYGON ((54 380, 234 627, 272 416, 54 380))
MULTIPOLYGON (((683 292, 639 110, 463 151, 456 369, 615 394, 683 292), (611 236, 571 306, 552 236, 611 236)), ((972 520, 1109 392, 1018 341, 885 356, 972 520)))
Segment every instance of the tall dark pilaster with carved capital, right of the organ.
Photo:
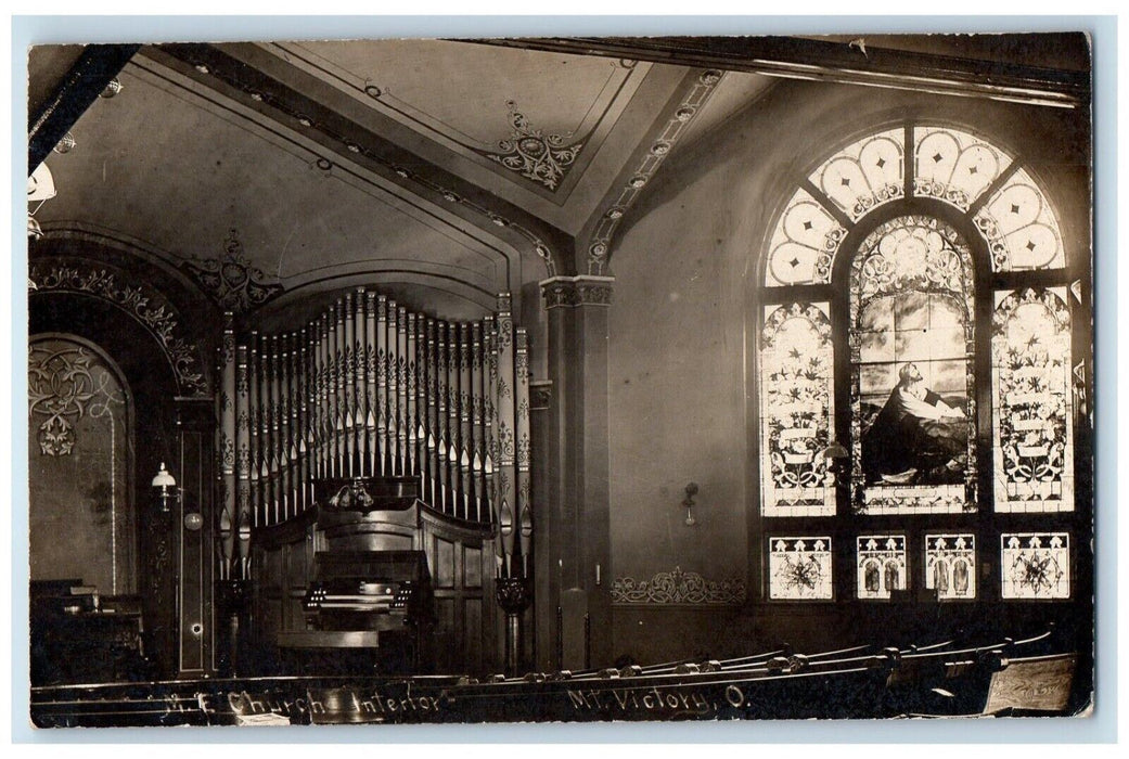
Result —
POLYGON ((541 282, 548 311, 545 520, 534 552, 537 665, 611 665, 607 309, 611 277, 541 282), (548 575, 548 582, 546 582, 548 575), (588 637, 590 630, 590 638, 588 637), (558 661, 559 660, 559 661, 558 661))

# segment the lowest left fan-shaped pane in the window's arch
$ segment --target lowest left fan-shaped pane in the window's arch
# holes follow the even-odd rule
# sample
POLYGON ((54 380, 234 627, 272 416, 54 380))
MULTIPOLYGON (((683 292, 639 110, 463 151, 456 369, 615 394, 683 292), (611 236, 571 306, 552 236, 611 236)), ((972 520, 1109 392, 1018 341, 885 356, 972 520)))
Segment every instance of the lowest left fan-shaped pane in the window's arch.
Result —
POLYGON ((764 283, 811 285, 831 281, 831 262, 847 230, 805 190, 785 207, 769 241, 764 283))

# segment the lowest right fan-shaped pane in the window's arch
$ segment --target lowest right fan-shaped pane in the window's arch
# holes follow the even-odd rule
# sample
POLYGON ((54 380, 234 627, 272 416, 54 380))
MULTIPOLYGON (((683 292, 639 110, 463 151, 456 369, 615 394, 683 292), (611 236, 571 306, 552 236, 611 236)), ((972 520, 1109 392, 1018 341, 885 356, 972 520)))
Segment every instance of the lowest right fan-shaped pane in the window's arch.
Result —
POLYGON ((988 239, 992 271, 1061 269, 1062 234, 1054 212, 1031 175, 1022 168, 975 216, 988 239))

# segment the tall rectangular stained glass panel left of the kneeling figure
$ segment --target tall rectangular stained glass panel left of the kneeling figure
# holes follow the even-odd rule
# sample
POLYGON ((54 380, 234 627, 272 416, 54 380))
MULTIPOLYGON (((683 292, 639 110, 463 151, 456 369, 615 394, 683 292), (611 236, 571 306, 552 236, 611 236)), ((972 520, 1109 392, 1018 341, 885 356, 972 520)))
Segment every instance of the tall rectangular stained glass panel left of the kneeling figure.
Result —
POLYGON ((761 504, 765 516, 835 513, 824 452, 834 408, 828 304, 767 307, 761 346, 761 504))

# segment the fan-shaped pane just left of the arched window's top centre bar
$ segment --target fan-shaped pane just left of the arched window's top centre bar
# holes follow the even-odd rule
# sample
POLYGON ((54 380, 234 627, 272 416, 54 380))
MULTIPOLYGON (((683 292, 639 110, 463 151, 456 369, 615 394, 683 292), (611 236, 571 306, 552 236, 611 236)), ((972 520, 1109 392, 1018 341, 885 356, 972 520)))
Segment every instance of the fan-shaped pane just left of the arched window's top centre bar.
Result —
POLYGON ((852 221, 905 193, 905 130, 892 129, 852 142, 808 177, 852 221))

